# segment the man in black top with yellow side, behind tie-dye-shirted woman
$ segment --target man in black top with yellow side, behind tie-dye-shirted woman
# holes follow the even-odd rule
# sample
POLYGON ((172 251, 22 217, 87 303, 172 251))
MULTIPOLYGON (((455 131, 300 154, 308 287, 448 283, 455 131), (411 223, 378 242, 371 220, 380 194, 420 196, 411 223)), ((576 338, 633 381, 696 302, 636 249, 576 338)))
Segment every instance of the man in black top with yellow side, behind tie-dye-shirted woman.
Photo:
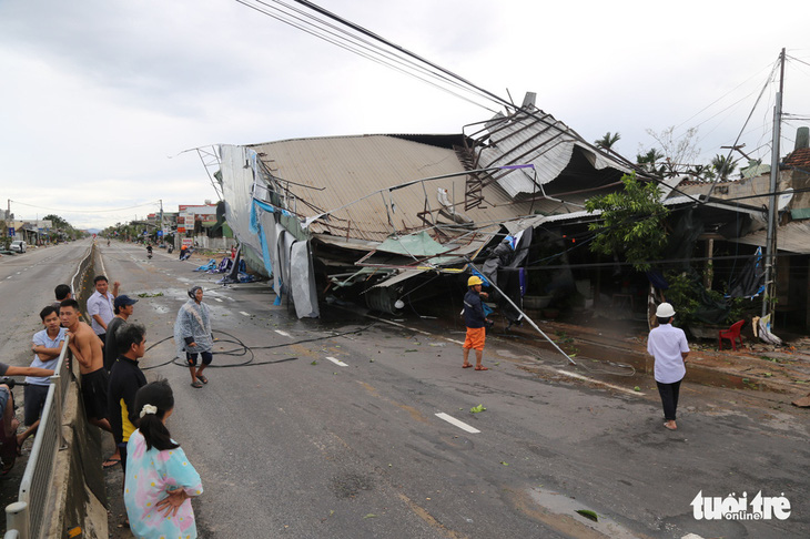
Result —
MULTIPOLYGON (((138 424, 139 410, 135 407, 135 394, 146 385, 146 377, 138 364, 138 360, 146 353, 146 328, 136 322, 125 324, 118 330, 118 344, 121 354, 110 373, 108 406, 112 437, 115 439, 121 468, 125 477, 126 443, 135 431, 135 424, 138 424)), ((111 460, 114 457, 113 455, 111 460)))

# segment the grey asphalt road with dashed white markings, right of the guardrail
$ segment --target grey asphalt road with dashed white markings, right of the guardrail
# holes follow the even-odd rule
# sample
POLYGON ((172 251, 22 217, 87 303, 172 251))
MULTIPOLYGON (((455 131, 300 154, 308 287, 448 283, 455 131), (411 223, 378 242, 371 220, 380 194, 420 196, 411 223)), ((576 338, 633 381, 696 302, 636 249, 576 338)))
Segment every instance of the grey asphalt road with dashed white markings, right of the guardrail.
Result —
MULTIPOLYGON (((199 261, 160 250, 146 261, 144 250, 118 242, 101 251, 122 293, 144 295, 134 312, 153 346, 143 367, 175 390, 169 428, 203 478, 194 501, 201 537, 810 536, 804 410, 685 384, 671 433, 647 376, 624 379, 624 390, 598 373, 574 379, 558 373, 567 369, 560 357, 497 336, 485 353, 490 370, 462 369, 463 328, 452 324, 409 316, 395 326, 336 307, 297 321, 273 306, 266 285, 222 287, 219 276, 192 271, 199 261), (169 338, 193 284, 205 287, 221 338, 202 389, 172 363, 169 338), (486 410, 470 413, 477 405, 486 410), (743 491, 783 494, 790 517, 695 518, 699 492, 743 491), (598 522, 577 510, 595 511, 598 522)), ((52 291, 44 274, 26 284, 37 267, 14 274, 14 289, 52 291)), ((108 471, 112 529, 126 537, 115 526, 120 475, 108 471)))

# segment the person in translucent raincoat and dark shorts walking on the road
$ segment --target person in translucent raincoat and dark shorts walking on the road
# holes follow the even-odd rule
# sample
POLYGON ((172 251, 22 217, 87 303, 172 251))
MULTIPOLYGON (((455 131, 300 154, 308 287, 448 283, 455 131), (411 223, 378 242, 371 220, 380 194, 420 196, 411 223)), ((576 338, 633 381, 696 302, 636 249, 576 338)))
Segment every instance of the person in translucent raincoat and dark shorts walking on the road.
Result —
POLYGON ((202 287, 192 286, 189 289, 189 301, 180 307, 178 319, 174 322, 174 344, 178 347, 178 356, 182 357, 185 354, 191 373, 191 387, 198 389, 202 387, 202 384, 209 383, 202 373, 214 358, 211 315, 209 306, 202 303, 202 287), (200 367, 196 366, 198 356, 202 358, 200 367))

